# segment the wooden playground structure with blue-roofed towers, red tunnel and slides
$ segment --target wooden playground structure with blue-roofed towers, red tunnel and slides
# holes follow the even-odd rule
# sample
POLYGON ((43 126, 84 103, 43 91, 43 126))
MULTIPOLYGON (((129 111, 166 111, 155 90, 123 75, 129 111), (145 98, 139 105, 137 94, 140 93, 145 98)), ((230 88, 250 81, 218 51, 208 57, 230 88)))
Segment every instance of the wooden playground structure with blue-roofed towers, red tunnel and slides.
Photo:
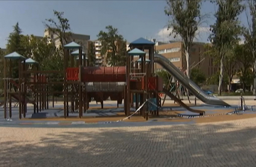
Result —
POLYGON ((36 114, 44 109, 49 109, 50 95, 54 107, 54 95, 63 94, 64 118, 69 117, 69 113, 76 111, 82 118, 83 113, 89 109, 92 99, 100 102, 101 108, 103 108, 104 100, 110 97, 111 100, 117 101, 117 107, 122 102, 124 103, 124 112, 127 117, 131 114, 131 108, 136 108, 136 110, 140 108, 140 115, 148 120, 149 113, 158 115, 161 109, 161 100, 158 96, 161 92, 187 110, 203 115, 204 111, 189 108, 179 98, 173 96, 169 90, 163 88, 163 80, 155 76, 154 63, 160 64, 202 102, 210 105, 229 106, 222 100, 205 94, 168 59, 155 53, 154 45, 155 43, 152 41, 139 38, 130 44, 131 51, 128 52, 126 66, 88 67, 88 59, 82 52, 81 46, 72 42, 64 46, 63 71, 41 71, 39 64, 33 59, 26 59, 16 52, 10 53, 4 57, 4 117, 11 118, 13 99, 18 101, 19 118, 21 119, 22 115, 24 118, 26 117, 27 103, 34 105, 34 114, 36 114), (146 59, 145 50, 148 50, 149 59, 146 59), (134 61, 134 56, 139 56, 140 61, 134 61), (17 79, 11 78, 11 61, 13 60, 16 60, 19 66, 17 79), (9 70, 7 70, 7 66, 9 70), (60 73, 63 76, 57 76, 60 73), (63 85, 63 91, 53 91, 54 85, 63 85), (27 97, 29 91, 33 100, 27 97), (7 115, 7 111, 9 111, 9 115, 7 115))

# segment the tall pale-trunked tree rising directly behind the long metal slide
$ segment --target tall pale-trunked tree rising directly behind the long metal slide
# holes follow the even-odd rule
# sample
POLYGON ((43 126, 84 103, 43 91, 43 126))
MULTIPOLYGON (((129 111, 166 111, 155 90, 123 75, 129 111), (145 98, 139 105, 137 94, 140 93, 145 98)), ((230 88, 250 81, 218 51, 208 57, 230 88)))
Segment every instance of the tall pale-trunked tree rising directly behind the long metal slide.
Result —
POLYGON ((187 77, 190 77, 190 47, 204 17, 201 16, 201 0, 167 0, 165 13, 170 17, 168 28, 172 29, 175 37, 179 35, 183 42, 187 62, 187 77))

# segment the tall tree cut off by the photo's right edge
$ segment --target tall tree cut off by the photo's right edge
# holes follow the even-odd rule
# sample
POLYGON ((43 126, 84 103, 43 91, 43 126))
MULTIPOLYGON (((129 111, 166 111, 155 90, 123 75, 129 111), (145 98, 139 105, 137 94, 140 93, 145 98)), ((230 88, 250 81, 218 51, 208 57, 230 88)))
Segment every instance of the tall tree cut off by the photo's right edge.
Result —
MULTIPOLYGON (((249 14, 246 13, 248 26, 243 29, 243 37, 245 44, 249 46, 249 50, 254 58, 253 72, 256 70, 256 0, 248 0, 249 14), (250 17, 251 16, 251 17, 250 17)), ((256 94, 256 78, 254 79, 254 94, 256 94)))

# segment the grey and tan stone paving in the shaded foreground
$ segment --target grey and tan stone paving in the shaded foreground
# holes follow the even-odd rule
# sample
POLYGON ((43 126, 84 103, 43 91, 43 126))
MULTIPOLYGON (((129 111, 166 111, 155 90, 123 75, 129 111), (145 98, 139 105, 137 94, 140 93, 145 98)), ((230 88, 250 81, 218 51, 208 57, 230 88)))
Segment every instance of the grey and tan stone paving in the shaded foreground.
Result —
POLYGON ((0 166, 256 166, 256 118, 114 128, 0 128, 0 166))

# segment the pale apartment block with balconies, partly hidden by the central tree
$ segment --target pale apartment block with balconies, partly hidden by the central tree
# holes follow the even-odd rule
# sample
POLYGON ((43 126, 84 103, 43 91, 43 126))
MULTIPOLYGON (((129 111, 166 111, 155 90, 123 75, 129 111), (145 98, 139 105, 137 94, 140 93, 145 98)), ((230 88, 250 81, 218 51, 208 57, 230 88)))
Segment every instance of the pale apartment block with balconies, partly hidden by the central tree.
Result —
MULTIPOLYGON (((98 66, 107 65, 105 55, 101 55, 101 47, 102 47, 101 41, 94 40, 93 43, 95 44, 95 56, 96 56, 95 66, 98 67, 98 66)), ((126 50, 130 49, 129 44, 130 43, 126 42, 126 50)))

